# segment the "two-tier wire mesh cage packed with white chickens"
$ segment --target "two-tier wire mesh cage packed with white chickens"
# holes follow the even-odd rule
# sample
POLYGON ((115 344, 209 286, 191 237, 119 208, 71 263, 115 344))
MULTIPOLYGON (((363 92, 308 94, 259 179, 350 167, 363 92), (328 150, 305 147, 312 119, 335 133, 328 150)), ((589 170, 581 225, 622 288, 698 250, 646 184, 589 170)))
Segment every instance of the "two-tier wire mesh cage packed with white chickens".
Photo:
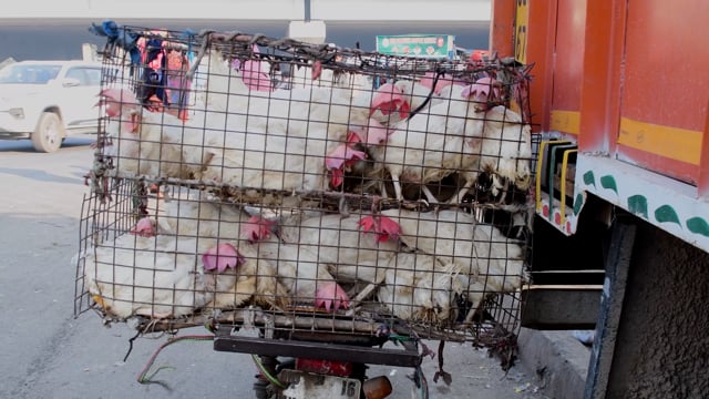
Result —
POLYGON ((76 315, 143 332, 516 332, 526 65, 109 28, 76 315))

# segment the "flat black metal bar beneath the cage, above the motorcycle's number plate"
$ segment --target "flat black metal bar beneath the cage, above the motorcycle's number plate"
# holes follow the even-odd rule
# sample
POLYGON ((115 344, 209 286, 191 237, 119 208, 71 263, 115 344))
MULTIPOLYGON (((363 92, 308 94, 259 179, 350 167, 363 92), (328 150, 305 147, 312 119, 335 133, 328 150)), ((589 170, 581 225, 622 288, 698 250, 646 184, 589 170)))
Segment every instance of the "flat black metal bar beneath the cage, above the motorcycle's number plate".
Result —
POLYGON ((366 365, 418 367, 421 356, 402 349, 366 348, 328 342, 275 340, 239 336, 217 336, 214 350, 261 356, 305 357, 322 360, 347 360, 366 365))

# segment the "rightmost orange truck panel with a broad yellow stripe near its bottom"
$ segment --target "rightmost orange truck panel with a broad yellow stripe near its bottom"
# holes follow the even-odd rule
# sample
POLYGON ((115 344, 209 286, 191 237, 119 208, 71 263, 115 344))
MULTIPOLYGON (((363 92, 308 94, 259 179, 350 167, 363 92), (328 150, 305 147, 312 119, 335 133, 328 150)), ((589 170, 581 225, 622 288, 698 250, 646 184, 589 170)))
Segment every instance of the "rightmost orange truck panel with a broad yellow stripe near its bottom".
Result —
POLYGON ((628 1, 620 158, 696 184, 707 121, 707 1, 628 1))

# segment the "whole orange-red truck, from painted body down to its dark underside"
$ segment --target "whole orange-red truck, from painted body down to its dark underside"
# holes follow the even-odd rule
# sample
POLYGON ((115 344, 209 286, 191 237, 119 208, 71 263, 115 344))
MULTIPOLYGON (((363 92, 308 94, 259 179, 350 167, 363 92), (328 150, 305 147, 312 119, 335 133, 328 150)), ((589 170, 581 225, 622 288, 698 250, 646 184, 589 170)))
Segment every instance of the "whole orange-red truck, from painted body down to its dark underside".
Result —
POLYGON ((493 1, 492 50, 534 64, 542 137, 523 319, 596 326, 586 398, 709 389, 708 14, 700 0, 493 1))

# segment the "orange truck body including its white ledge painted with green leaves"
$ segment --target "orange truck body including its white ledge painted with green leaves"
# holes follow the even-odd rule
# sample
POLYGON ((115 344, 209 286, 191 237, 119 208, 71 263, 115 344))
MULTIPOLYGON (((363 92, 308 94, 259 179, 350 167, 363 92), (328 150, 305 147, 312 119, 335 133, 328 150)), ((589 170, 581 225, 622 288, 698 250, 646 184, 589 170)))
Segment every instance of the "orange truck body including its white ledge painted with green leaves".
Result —
POLYGON ((493 27, 514 28, 493 29, 491 50, 534 64, 537 178, 572 176, 564 198, 551 177, 536 184, 564 234, 594 194, 709 252, 707 16, 707 0, 493 0, 493 27))

